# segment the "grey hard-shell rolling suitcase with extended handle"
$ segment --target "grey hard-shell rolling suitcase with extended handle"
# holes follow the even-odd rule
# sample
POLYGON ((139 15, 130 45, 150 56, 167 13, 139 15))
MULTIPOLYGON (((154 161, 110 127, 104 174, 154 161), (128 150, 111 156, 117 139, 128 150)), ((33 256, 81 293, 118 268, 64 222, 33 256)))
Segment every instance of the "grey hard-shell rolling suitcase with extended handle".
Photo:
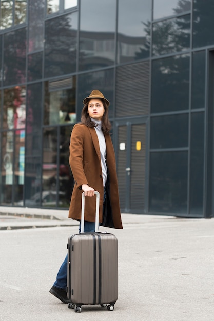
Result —
POLYGON ((118 240, 99 233, 100 194, 95 192, 95 232, 84 233, 85 193, 82 195, 81 233, 68 238, 68 308, 81 312, 82 305, 99 304, 114 309, 118 299, 118 240))

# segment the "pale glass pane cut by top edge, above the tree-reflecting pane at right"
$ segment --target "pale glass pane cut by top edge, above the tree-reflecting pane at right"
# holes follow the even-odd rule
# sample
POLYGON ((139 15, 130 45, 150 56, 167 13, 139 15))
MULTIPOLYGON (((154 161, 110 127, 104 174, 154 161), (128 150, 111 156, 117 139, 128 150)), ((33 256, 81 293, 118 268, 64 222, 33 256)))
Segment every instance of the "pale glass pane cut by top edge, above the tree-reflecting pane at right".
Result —
POLYGON ((191 9, 191 0, 153 0, 153 19, 176 15, 191 9))

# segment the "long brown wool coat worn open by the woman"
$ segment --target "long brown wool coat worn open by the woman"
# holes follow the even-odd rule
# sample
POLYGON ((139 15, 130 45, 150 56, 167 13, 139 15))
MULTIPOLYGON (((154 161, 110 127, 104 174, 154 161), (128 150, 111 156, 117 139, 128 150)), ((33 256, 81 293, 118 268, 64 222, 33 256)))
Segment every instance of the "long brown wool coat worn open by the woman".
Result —
MULTIPOLYGON (((114 228, 122 229, 121 212, 118 193, 118 179, 114 149, 109 134, 104 134, 106 140, 106 164, 110 180, 110 204, 114 228)), ((74 188, 69 207, 69 217, 81 219, 82 184, 88 184, 100 192, 99 222, 103 220, 103 178, 98 136, 94 128, 83 124, 73 127, 70 139, 69 164, 73 173, 74 188)), ((95 197, 85 198, 85 220, 95 220, 95 197)), ((108 226, 108 225, 106 225, 108 226)))

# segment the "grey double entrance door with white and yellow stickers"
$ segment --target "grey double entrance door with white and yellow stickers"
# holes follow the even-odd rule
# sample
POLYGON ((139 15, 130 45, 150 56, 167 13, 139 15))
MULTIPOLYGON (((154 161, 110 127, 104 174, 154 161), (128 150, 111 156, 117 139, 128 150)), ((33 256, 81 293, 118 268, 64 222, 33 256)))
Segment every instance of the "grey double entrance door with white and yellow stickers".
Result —
POLYGON ((116 123, 116 158, 121 211, 145 212, 146 119, 116 123))

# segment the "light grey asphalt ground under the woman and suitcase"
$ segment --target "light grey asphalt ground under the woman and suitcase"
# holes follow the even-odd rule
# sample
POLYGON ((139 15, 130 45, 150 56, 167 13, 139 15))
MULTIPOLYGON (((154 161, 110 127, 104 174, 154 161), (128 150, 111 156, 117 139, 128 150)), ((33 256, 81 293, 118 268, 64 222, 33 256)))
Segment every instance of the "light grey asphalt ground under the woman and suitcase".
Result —
MULTIPOLYGON (((37 220, 35 226, 39 223, 46 222, 37 220)), ((214 319, 213 219, 129 215, 123 230, 108 231, 119 243, 114 311, 83 306, 82 313, 75 313, 49 289, 77 226, 1 230, 0 320, 214 319)))

